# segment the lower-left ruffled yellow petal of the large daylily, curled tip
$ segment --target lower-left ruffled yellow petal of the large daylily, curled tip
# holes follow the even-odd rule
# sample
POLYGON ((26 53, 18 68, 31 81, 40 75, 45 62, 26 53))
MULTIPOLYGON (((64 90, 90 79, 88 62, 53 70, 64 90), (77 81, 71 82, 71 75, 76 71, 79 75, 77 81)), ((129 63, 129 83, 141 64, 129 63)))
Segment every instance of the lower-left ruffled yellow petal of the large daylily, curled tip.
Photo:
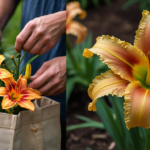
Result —
POLYGON ((88 89, 89 97, 93 100, 89 105, 89 110, 96 111, 95 103, 99 97, 112 94, 118 97, 123 96, 125 88, 129 84, 128 81, 115 75, 111 70, 97 76, 88 89))

